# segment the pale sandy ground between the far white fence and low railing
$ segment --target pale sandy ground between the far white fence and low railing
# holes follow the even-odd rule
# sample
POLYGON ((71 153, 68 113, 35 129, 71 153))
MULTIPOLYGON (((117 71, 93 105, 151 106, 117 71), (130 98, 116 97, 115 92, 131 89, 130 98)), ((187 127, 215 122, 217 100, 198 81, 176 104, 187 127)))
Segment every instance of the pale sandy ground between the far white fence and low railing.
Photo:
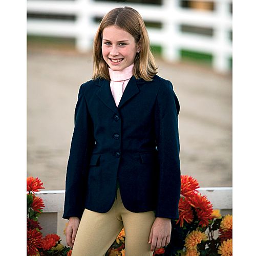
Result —
MULTIPOLYGON (((231 74, 157 59, 179 98, 181 172, 201 186, 231 186, 231 74)), ((28 47, 28 176, 65 189, 78 88, 91 79, 91 55, 28 47)))

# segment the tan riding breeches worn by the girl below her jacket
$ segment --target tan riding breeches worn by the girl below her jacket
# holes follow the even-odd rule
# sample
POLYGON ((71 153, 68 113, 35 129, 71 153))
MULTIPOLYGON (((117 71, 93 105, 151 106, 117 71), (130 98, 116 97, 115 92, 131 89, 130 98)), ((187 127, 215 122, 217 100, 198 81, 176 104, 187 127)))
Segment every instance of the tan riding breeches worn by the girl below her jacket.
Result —
POLYGON ((117 198, 105 214, 84 209, 72 256, 104 256, 123 227, 125 256, 152 256, 148 237, 154 221, 154 211, 136 213, 125 209, 118 188, 117 198))

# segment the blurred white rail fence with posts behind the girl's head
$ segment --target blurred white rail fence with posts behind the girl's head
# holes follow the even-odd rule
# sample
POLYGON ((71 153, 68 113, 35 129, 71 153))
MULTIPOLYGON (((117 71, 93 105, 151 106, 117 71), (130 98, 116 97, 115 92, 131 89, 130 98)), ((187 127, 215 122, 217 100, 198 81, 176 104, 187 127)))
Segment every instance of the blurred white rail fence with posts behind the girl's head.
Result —
POLYGON ((214 2, 214 11, 185 9, 180 7, 180 0, 162 0, 161 6, 110 3, 93 0, 45 1, 27 0, 28 13, 69 14, 75 21, 67 20, 27 20, 29 35, 55 37, 72 37, 76 39, 77 50, 91 50, 94 34, 98 24, 94 17, 102 17, 116 7, 129 5, 142 15, 146 22, 160 22, 162 28, 148 28, 151 43, 160 45, 162 56, 168 61, 180 59, 180 50, 198 51, 212 54, 213 66, 217 71, 229 70, 229 59, 232 56, 232 42, 229 33, 232 31, 232 14, 229 11, 232 0, 195 0, 196 2, 214 2), (212 28, 212 36, 185 33, 181 25, 212 28))

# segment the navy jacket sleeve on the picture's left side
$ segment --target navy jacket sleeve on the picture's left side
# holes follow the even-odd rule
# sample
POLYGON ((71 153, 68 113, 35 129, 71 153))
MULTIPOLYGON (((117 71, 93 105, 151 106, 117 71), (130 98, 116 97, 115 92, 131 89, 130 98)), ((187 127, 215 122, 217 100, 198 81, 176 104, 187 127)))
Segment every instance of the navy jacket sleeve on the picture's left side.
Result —
POLYGON ((63 219, 78 217, 84 210, 86 191, 86 168, 92 146, 92 121, 88 113, 86 99, 80 86, 75 108, 75 126, 71 141, 66 175, 66 191, 63 219))

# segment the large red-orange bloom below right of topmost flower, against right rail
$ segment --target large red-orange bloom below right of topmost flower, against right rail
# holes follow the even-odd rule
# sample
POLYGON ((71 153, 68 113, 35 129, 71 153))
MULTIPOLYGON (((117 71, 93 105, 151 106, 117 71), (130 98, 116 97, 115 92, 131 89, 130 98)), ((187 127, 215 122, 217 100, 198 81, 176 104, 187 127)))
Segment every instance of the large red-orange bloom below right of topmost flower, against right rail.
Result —
POLYGON ((188 200, 197 212, 197 217, 200 220, 199 225, 202 227, 207 226, 212 215, 212 204, 210 201, 208 201, 206 196, 200 194, 194 194, 188 200))

